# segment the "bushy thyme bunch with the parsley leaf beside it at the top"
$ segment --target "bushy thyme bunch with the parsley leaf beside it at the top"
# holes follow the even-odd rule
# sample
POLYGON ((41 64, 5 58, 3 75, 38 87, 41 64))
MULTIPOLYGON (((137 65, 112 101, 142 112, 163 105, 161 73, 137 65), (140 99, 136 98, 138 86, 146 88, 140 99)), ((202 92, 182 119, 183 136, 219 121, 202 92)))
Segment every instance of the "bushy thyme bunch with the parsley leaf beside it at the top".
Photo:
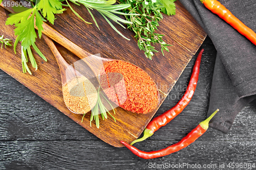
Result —
POLYGON ((161 14, 175 15, 175 2, 176 0, 119 0, 121 4, 131 4, 131 7, 123 10, 124 13, 139 14, 139 16, 129 15, 125 16, 128 24, 135 33, 135 38, 138 39, 138 46, 140 50, 145 51, 145 56, 152 59, 155 50, 154 44, 161 45, 161 52, 164 56, 163 50, 169 52, 167 46, 162 38, 164 35, 157 34, 155 31, 159 26, 158 21, 163 19, 161 14))

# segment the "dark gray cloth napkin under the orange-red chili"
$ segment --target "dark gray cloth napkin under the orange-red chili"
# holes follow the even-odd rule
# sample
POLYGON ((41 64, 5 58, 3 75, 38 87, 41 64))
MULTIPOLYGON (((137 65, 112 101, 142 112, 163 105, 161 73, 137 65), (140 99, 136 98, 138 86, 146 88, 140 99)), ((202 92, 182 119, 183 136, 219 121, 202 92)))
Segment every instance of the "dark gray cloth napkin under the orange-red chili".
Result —
MULTIPOLYGON (((180 0, 211 38, 217 50, 208 116, 209 126, 227 133, 236 115, 256 99, 256 45, 233 29, 200 0, 180 0)), ((255 0, 220 0, 247 27, 256 32, 255 0)))

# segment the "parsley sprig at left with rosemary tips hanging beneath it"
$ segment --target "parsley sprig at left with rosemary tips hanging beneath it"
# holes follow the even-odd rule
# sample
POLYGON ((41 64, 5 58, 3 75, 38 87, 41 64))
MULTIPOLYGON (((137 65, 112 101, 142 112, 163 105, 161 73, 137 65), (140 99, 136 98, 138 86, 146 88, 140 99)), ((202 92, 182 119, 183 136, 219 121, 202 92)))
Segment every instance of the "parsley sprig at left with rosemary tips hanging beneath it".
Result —
POLYGON ((66 9, 62 9, 61 2, 58 0, 41 0, 35 5, 32 4, 32 8, 19 7, 18 10, 21 10, 21 12, 10 14, 6 20, 6 25, 15 25, 16 29, 14 29, 14 34, 17 38, 14 42, 14 52, 16 54, 17 43, 19 41, 22 42, 23 72, 26 73, 28 71, 29 74, 32 74, 27 65, 29 56, 32 67, 37 70, 36 60, 31 51, 32 47, 42 59, 47 61, 46 57, 35 44, 37 35, 34 28, 34 21, 38 28, 38 36, 41 38, 43 30, 42 23, 46 21, 43 17, 46 17, 47 20, 53 24, 55 19, 54 14, 62 13, 66 9))

